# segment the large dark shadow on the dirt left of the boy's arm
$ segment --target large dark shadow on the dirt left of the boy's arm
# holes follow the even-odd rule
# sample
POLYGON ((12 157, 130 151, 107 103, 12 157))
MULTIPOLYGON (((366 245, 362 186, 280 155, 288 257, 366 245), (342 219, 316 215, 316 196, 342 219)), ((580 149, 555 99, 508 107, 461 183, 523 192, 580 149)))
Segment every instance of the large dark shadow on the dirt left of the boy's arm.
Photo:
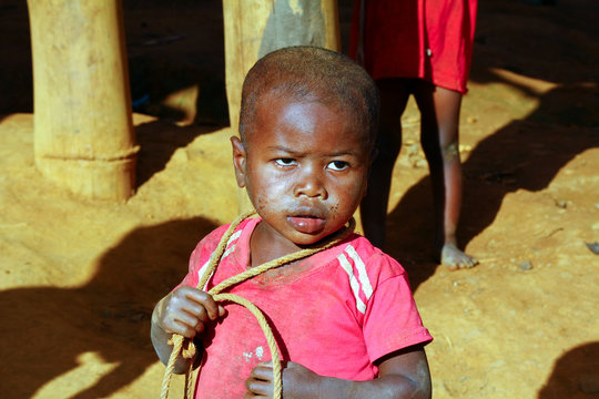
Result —
POLYGON ((31 398, 87 352, 114 369, 71 398, 110 397, 139 378, 158 359, 150 340, 154 304, 183 279, 191 252, 215 227, 202 217, 141 227, 109 249, 80 287, 1 291, 0 396, 31 398))

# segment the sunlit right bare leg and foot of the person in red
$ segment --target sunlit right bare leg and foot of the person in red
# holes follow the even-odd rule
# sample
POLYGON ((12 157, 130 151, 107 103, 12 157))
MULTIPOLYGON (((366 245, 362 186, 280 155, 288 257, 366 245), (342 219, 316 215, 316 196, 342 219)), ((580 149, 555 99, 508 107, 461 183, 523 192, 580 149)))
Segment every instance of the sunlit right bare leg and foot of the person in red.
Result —
POLYGON ((422 115, 423 144, 435 202, 435 250, 451 269, 473 267, 478 260, 458 249, 456 229, 461 206, 459 160, 459 92, 420 81, 415 90, 422 115))

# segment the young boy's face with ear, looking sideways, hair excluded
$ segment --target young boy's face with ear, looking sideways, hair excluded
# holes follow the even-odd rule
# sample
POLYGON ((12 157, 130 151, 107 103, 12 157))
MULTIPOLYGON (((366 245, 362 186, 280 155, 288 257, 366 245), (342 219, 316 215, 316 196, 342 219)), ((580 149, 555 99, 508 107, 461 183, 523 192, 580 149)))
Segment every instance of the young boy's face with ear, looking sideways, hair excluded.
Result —
POLYGON ((335 233, 362 201, 370 165, 354 119, 316 102, 266 95, 246 136, 233 137, 235 173, 273 243, 311 245, 335 233))

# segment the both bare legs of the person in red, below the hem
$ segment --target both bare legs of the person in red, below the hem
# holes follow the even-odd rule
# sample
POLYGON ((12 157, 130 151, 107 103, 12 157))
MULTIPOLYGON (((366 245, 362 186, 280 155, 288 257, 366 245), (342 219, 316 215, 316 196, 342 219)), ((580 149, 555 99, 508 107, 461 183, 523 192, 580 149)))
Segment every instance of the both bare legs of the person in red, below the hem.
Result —
POLYGON ((379 154, 361 204, 366 237, 378 247, 385 246, 392 173, 402 147, 400 115, 413 94, 420 111, 420 142, 433 184, 436 256, 450 269, 477 265, 475 257, 458 248, 456 238, 461 206, 458 134, 461 94, 420 79, 380 79, 376 83, 380 92, 379 154))

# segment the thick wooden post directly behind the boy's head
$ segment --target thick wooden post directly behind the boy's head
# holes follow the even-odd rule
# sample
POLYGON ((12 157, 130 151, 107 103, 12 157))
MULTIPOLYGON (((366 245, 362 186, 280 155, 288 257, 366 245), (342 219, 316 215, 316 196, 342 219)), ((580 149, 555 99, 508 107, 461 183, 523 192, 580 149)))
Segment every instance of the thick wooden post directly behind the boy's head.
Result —
MULTIPOLYGON (((341 51, 337 0, 223 0, 229 120, 237 134, 243 80, 271 51, 300 44, 341 51)), ((245 190, 240 212, 251 208, 245 190)))

